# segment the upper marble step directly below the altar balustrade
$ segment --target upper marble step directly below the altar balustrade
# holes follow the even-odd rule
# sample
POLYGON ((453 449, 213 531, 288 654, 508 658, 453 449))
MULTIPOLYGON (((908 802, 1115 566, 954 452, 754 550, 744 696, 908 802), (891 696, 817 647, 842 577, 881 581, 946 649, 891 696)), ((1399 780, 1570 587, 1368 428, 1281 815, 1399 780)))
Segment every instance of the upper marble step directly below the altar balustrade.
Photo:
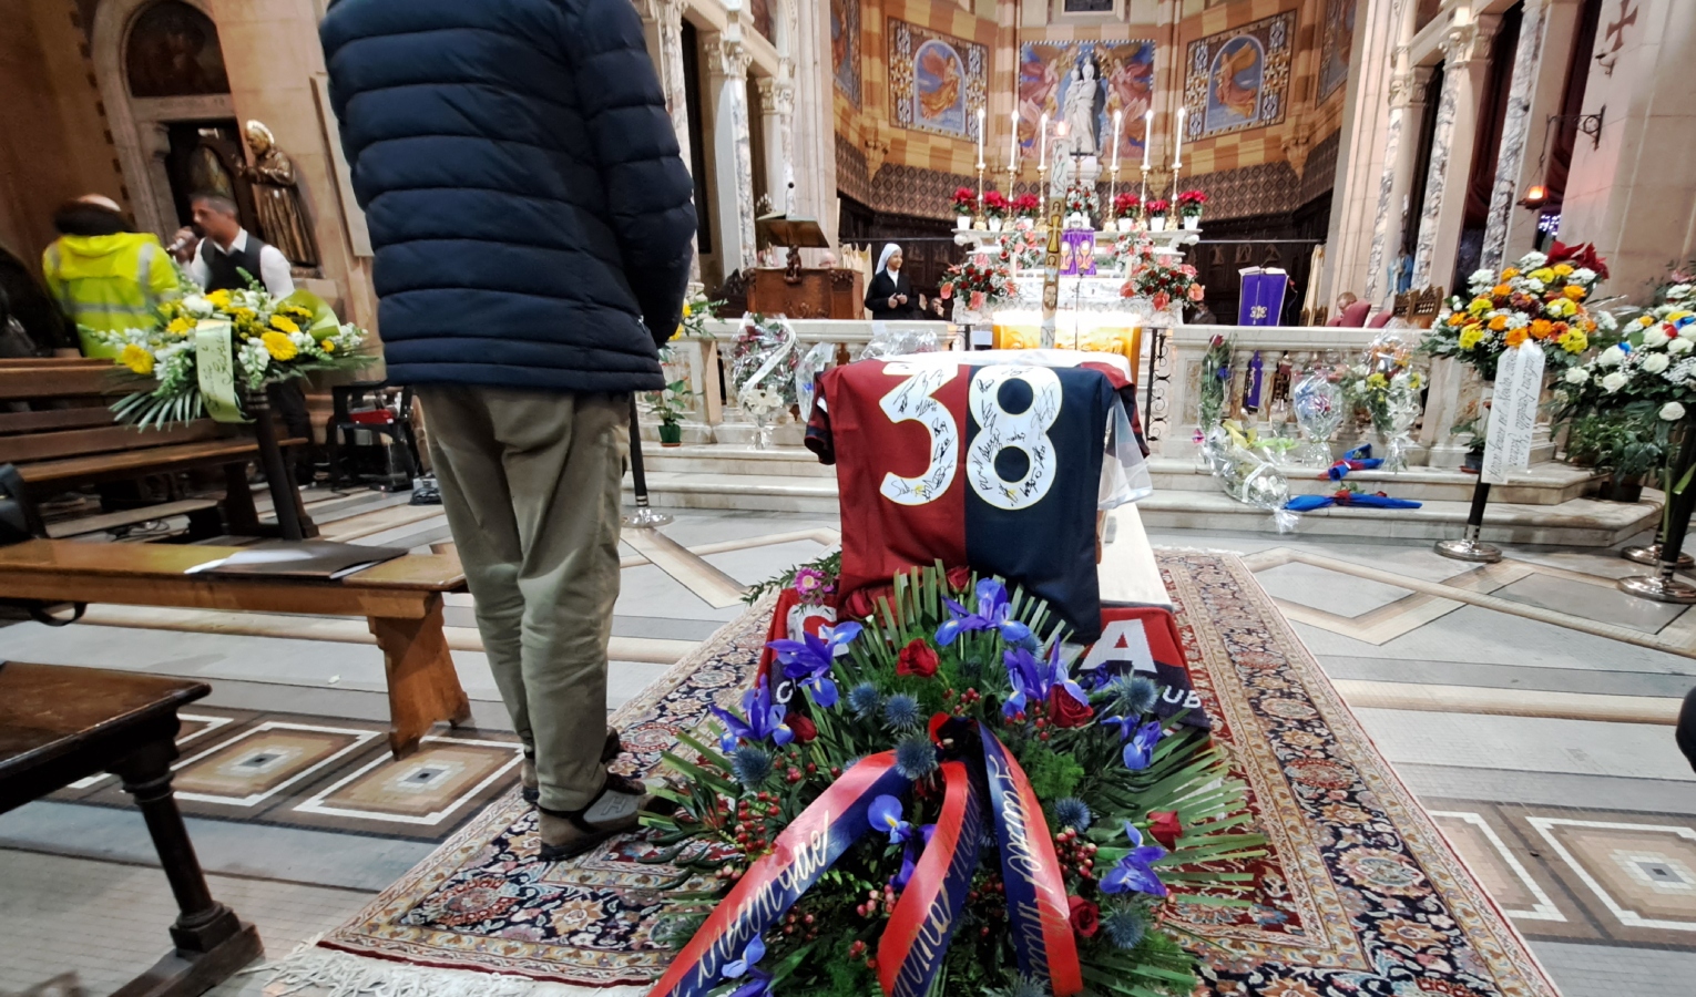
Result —
MULTIPOLYGON (((643 446, 643 460, 651 471, 680 475, 724 475, 755 478, 834 478, 828 468, 802 446, 772 446, 755 449, 733 444, 683 444, 661 448, 643 446)), ((1192 458, 1162 458, 1148 461, 1158 492, 1218 492, 1219 487, 1192 458)), ((1316 470, 1291 468, 1286 471, 1292 495, 1323 495, 1335 490, 1330 478, 1319 478, 1316 470)), ((1513 505, 1560 505, 1582 498, 1594 475, 1584 468, 1564 463, 1540 463, 1498 485, 1492 502, 1513 505)), ((1362 490, 1386 492, 1396 498, 1416 502, 1470 502, 1477 475, 1459 470, 1408 468, 1406 471, 1353 471, 1348 480, 1362 490)))

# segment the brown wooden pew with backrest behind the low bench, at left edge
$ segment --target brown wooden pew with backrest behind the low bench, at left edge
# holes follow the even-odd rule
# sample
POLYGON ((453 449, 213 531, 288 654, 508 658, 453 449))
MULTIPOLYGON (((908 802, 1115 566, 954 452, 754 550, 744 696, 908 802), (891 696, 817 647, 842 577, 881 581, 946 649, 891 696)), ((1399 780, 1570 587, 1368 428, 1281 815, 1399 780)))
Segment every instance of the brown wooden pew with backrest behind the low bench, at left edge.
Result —
MULTIPOLYGON (((36 497, 148 475, 220 468, 222 524, 217 515, 205 515, 214 500, 185 500, 192 505, 173 504, 170 512, 148 507, 105 512, 97 529, 188 515, 190 536, 265 534, 248 487, 248 465, 259 451, 254 439, 210 419, 170 429, 119 426, 110 404, 127 390, 105 359, 0 359, 0 463, 17 465, 36 497)), ((309 527, 304 507, 300 515, 302 526, 309 527)), ((59 536, 75 532, 93 529, 75 526, 61 529, 59 536)), ((317 536, 315 529, 307 529, 307 536, 317 536)))

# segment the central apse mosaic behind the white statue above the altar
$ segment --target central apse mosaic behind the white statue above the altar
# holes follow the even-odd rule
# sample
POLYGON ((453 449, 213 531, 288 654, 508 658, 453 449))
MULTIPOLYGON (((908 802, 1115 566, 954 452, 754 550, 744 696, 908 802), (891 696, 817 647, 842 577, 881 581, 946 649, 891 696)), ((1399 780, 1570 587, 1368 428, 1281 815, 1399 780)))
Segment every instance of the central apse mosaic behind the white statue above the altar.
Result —
POLYGON ((1143 112, 1153 86, 1155 42, 1150 39, 1026 42, 1019 49, 1019 142, 1036 154, 1036 132, 1046 114, 1050 122, 1068 122, 1085 149, 1109 158, 1113 115, 1124 112, 1119 158, 1140 163, 1143 112))

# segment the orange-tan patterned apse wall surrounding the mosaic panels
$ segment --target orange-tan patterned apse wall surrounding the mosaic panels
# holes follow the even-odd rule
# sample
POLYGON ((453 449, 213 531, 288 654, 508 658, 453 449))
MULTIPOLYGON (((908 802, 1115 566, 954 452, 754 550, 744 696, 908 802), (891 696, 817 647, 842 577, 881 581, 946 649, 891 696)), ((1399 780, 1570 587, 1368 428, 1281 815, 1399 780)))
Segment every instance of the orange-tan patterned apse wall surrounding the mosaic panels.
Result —
MULTIPOLYGON (((897 127, 890 120, 890 71, 885 63, 890 19, 990 47, 985 159, 994 170, 1006 163, 1007 115, 1013 110, 1021 44, 1157 39, 1155 158, 1170 161, 1170 119, 1184 86, 1182 54, 1189 51, 1189 44, 1291 12, 1296 27, 1282 122, 1186 142, 1180 187, 1206 190, 1211 198, 1208 215, 1214 219, 1287 212, 1331 187, 1336 132, 1348 86, 1338 86, 1314 105, 1326 0, 1186 0, 1177 24, 1167 19, 1170 7, 1160 3, 1158 17, 1167 20, 1155 24, 1050 24, 1014 29, 1019 22, 1018 7, 1018 0, 1001 0, 997 20, 987 20, 950 0, 865 0, 860 5, 860 107, 840 92, 836 95, 838 187, 843 195, 880 212, 946 217, 953 190, 977 183, 974 142, 897 127)), ((1026 164, 1024 173, 1035 171, 1026 164)), ((1033 178, 1024 176, 1016 190, 1028 188, 1033 178)), ((987 185, 994 188, 1004 187, 1004 171, 987 176, 987 185)))

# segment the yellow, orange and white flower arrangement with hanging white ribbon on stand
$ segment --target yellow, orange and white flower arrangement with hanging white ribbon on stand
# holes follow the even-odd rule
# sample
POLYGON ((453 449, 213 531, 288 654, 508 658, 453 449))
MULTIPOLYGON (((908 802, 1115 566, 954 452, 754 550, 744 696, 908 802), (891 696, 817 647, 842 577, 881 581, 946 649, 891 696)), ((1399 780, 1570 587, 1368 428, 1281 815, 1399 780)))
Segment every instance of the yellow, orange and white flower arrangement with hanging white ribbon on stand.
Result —
POLYGON ((1526 341, 1542 346, 1548 368, 1564 371, 1576 366, 1593 336, 1616 329, 1613 315, 1593 315, 1584 307, 1608 270, 1587 246, 1565 254, 1582 261, 1586 253, 1601 270, 1555 259, 1554 254, 1526 253, 1516 266, 1501 273, 1476 271, 1467 280, 1470 298, 1448 298, 1420 349, 1467 363, 1484 380, 1496 380, 1501 354, 1526 341))

